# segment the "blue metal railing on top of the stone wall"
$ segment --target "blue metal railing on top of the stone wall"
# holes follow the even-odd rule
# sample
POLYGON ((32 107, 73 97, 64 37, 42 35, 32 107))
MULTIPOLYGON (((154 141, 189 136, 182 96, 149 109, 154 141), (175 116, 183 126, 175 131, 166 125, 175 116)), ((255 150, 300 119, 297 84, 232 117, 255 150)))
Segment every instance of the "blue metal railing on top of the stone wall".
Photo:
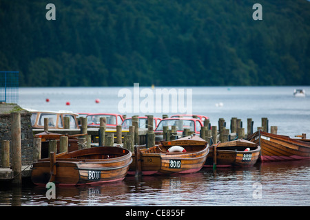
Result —
POLYGON ((0 102, 19 102, 19 72, 0 72, 0 102))

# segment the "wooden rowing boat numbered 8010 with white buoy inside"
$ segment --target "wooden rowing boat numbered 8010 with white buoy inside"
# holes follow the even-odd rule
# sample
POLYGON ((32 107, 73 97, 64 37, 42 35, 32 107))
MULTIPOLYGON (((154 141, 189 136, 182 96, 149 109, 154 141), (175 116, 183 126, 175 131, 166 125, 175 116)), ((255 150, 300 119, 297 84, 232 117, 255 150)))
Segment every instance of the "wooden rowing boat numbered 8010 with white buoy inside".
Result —
MULTIPOLYGON (((151 148, 140 150, 142 175, 174 175, 196 173, 205 164, 209 153, 209 144, 194 135, 178 140, 161 142, 151 148), (178 146, 178 147, 175 147, 178 146), (173 148, 177 151, 171 152, 173 148)), ((136 171, 136 155, 130 164, 129 174, 136 171)))

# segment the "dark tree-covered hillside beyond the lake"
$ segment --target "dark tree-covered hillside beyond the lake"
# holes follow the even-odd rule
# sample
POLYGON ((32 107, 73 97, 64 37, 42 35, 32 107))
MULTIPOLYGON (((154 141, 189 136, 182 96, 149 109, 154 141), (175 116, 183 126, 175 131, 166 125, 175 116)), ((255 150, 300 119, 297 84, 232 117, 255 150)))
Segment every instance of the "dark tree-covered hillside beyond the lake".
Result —
POLYGON ((0 1, 0 71, 21 86, 310 85, 309 69, 306 0, 0 1))

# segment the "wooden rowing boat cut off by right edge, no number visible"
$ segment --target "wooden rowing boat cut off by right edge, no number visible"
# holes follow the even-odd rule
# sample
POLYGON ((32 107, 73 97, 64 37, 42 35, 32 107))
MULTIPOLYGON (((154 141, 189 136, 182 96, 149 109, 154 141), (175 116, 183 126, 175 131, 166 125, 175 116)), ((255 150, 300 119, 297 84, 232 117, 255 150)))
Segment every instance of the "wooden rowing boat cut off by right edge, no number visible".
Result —
POLYGON ((247 140, 260 144, 262 162, 310 159, 309 142, 264 131, 257 131, 247 140))

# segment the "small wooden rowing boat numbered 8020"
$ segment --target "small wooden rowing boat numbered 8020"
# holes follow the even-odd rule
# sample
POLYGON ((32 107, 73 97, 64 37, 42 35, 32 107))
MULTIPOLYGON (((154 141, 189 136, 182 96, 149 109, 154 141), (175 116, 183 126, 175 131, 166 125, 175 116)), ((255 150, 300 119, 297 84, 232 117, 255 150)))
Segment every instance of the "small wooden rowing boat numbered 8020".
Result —
MULTIPOLYGON (((214 147, 210 147, 204 167, 214 166, 214 147)), ((216 167, 254 166, 260 155, 260 146, 247 140, 234 140, 216 146, 216 167)))

